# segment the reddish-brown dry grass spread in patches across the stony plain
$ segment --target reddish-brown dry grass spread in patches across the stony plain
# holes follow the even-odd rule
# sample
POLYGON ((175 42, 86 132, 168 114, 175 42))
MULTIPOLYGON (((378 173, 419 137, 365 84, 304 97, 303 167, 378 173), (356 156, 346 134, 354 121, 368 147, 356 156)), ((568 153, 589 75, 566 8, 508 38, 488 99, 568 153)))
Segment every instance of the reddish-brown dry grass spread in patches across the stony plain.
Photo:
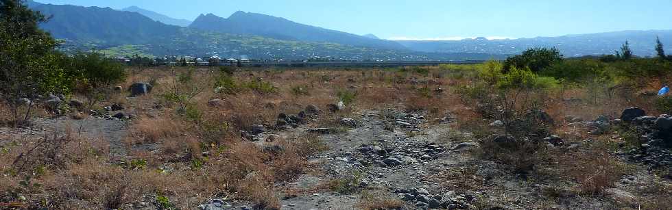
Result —
MULTIPOLYGON (((473 75, 456 75, 440 68, 427 69, 427 75, 370 68, 239 71, 233 76, 235 81, 256 81, 261 77, 277 91, 272 94, 252 90, 215 94, 212 75, 216 70, 200 68, 195 71, 193 84, 203 91, 189 101, 189 105, 198 111, 197 118, 186 117, 178 111, 178 105, 163 98, 176 87, 172 70, 179 74, 186 68, 134 70, 119 86, 128 88, 134 82, 150 82, 155 85, 152 93, 133 99, 126 99, 126 92, 112 94, 104 103, 121 103, 129 111, 136 112, 138 118, 132 120, 131 135, 126 141, 128 148, 156 143, 158 152, 130 150, 127 157, 110 157, 108 145, 102 143, 104 140, 90 141, 58 133, 56 137, 46 138, 49 144, 43 145, 47 146, 36 147, 33 153, 39 155, 20 159, 23 166, 19 167, 13 163, 16 157, 41 145, 45 139, 17 138, 11 144, 0 142, 0 149, 7 149, 6 153, 0 151, 0 172, 5 175, 0 176, 3 183, 0 185, 0 203, 17 202, 28 208, 114 209, 143 199, 153 203, 156 198, 165 197, 174 207, 193 209, 209 198, 229 197, 248 200, 261 209, 280 209, 276 192, 283 189, 279 186, 301 174, 314 172, 315 167, 310 166, 307 159, 325 150, 326 146, 315 135, 289 136, 259 146, 242 140, 239 131, 248 130, 254 124, 271 129, 278 114, 298 114, 307 105, 316 105, 324 111, 313 123, 334 128, 337 128, 337 120, 355 117, 361 110, 395 108, 422 112, 432 122, 451 116, 456 119, 456 123, 451 124, 452 129, 473 133, 478 139, 499 132, 488 127, 492 120, 485 120, 477 109, 464 103, 451 89, 473 84, 475 78, 470 78, 473 75), (296 87, 303 88, 300 94, 296 87), (437 88, 444 91, 435 91, 437 88), (351 93, 352 103, 345 110, 330 113, 327 105, 340 100, 339 92, 351 93), (224 103, 210 107, 208 101, 211 99, 221 99, 224 103), (157 108, 157 105, 163 107, 157 108), (147 166, 133 169, 120 164, 120 160, 139 159, 147 161, 147 166), (26 176, 31 176, 29 185, 21 182, 26 176), (20 200, 19 196, 25 196, 27 200, 20 200), (46 204, 45 199, 49 200, 46 204)), ((649 83, 645 89, 655 88, 658 83, 649 83)), ((180 84, 178 88, 187 87, 180 84)), ((634 93, 623 90, 611 97, 600 95, 599 103, 588 103, 586 100, 591 95, 587 90, 560 90, 549 93, 545 110, 556 120, 570 114, 586 120, 599 114, 617 117, 619 113, 615 111, 629 106, 653 110, 646 98, 632 97, 634 93), (577 104, 562 101, 572 96, 584 101, 577 104)), ((7 113, 0 103, 0 117, 7 113)), ((558 122, 559 126, 553 127, 553 131, 568 131, 569 128, 562 126, 566 123, 558 122)), ((576 139, 584 137, 587 136, 577 136, 576 139)), ((485 145, 485 148, 490 147, 485 145)), ((499 150, 490 149, 491 154, 499 150)), ((501 154, 498 159, 514 168, 529 170, 542 161, 547 163, 545 156, 538 156, 541 152, 543 150, 537 147, 523 145, 522 149, 501 154)), ((544 167, 561 168, 571 176, 567 180, 575 181, 577 188, 586 195, 599 194, 623 173, 620 163, 604 153, 561 155, 566 156, 556 159, 564 159, 568 168, 553 164, 544 167)), ((455 168, 442 175, 442 185, 450 189, 477 191, 483 187, 483 179, 476 168, 455 168)), ((353 182, 356 179, 350 181, 353 182)), ((669 191, 659 188, 656 193, 669 191)), ((361 200, 358 206, 361 209, 397 209, 405 204, 382 192, 362 192, 361 200)), ((664 205, 651 202, 646 207, 656 209, 664 205)))

